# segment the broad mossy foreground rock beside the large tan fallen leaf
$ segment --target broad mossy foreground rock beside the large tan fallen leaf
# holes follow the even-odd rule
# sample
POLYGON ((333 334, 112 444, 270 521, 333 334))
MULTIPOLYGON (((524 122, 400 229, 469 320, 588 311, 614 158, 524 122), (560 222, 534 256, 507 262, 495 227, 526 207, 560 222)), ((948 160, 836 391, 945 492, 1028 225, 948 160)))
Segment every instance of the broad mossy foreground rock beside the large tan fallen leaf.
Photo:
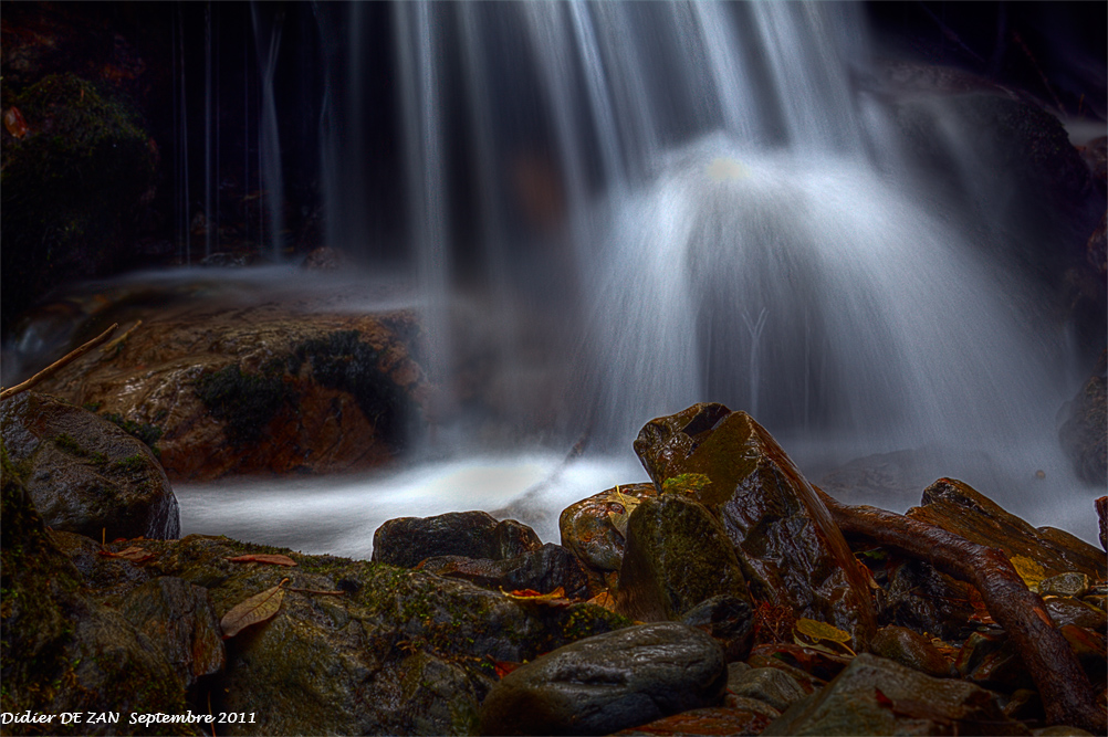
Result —
MULTIPOLYGON (((254 724, 226 725, 228 734, 472 734, 496 663, 533 660, 630 624, 592 604, 519 601, 422 571, 227 538, 142 546, 152 558, 127 564, 146 580, 174 577, 206 589, 217 617, 289 579, 277 613, 226 641, 224 671, 202 683, 213 710, 255 714, 254 724), (263 552, 298 565, 228 560, 263 552)), ((95 558, 103 565, 119 560, 95 558)), ((138 595, 137 584, 107 572, 86 580, 114 582, 102 596, 92 592, 102 604, 138 595)))

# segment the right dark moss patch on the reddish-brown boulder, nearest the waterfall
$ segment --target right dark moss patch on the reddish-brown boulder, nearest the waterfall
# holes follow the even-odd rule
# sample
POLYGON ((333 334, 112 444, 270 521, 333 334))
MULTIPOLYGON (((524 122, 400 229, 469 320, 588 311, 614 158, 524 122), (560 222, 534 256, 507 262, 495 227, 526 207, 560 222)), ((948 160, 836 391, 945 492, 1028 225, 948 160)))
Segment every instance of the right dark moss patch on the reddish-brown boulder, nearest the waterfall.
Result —
POLYGON ((349 392, 386 443, 404 445, 406 423, 413 416, 411 399, 379 366, 380 351, 360 340, 357 330, 343 330, 305 341, 289 363, 294 373, 307 361, 321 386, 349 392))

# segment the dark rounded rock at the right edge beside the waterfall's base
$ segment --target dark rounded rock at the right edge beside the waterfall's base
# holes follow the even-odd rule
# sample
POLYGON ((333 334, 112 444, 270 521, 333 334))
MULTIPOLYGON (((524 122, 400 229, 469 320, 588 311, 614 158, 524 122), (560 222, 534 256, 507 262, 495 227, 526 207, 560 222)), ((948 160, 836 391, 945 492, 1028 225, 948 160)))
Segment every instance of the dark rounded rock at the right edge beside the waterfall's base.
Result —
POLYGON ((1101 488, 1108 482, 1106 365, 1106 351, 1101 351, 1092 375, 1058 413, 1063 418, 1058 439, 1069 455, 1074 471, 1081 479, 1101 488))

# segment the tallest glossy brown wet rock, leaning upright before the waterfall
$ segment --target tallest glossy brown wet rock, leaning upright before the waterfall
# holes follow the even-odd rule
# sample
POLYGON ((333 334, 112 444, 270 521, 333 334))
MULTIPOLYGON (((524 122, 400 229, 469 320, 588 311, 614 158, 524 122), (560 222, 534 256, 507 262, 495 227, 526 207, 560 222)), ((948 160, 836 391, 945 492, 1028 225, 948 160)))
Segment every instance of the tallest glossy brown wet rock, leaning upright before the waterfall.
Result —
POLYGON ((635 440, 652 480, 701 474, 696 498, 749 567, 751 593, 850 632, 875 630, 869 588, 827 508, 772 436, 743 412, 697 404, 653 419, 635 440))

